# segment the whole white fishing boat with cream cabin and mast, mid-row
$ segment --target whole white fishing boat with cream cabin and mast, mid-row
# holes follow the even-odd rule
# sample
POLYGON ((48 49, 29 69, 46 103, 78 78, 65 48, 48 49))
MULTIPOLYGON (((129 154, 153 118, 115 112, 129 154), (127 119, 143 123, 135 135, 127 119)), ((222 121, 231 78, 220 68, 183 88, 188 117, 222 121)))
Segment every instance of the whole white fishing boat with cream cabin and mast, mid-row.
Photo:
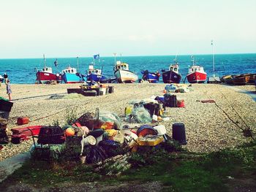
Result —
POLYGON ((116 77, 116 82, 128 82, 132 83, 138 80, 138 75, 129 71, 129 64, 123 63, 122 61, 116 61, 115 55, 115 66, 114 66, 114 75, 116 77))

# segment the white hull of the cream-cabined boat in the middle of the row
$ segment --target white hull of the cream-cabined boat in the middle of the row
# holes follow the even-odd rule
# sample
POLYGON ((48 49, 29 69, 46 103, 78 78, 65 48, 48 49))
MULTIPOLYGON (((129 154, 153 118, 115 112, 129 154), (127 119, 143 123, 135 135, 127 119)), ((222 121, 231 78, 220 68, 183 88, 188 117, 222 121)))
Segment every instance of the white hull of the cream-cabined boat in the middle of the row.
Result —
POLYGON ((138 75, 128 70, 119 69, 116 72, 114 72, 114 74, 116 77, 116 81, 119 83, 121 82, 132 83, 138 80, 138 75))

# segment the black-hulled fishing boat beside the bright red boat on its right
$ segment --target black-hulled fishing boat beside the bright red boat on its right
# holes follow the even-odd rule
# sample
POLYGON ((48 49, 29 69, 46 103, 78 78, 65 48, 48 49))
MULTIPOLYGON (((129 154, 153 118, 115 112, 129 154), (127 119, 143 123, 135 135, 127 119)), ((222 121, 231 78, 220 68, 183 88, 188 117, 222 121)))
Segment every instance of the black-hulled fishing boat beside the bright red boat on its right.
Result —
POLYGON ((179 83, 181 81, 181 74, 178 72, 177 56, 175 58, 175 64, 170 64, 169 70, 162 70, 162 81, 164 83, 179 83))

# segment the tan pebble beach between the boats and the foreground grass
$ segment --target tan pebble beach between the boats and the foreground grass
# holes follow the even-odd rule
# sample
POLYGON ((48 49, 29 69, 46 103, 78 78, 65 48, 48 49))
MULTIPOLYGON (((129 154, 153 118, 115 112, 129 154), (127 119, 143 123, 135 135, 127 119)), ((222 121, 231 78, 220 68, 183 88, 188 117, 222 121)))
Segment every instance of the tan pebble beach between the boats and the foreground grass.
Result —
MULTIPOLYGON (((10 135, 10 129, 18 127, 18 117, 29 117, 30 123, 23 126, 49 126, 56 121, 64 126, 70 112, 80 117, 85 112, 94 112, 96 107, 99 107, 99 111, 116 113, 123 120, 122 124, 126 125, 129 123, 124 121, 124 108, 129 106, 130 101, 163 96, 165 89, 165 84, 162 83, 112 85, 115 88, 114 93, 89 97, 76 93, 67 94, 67 88, 78 88, 78 84, 13 84, 11 87, 14 104, 7 133, 10 135)), ((233 87, 255 92, 255 85, 233 87)), ((185 107, 167 107, 164 115, 170 120, 157 123, 165 126, 170 137, 173 123, 184 123, 187 136, 187 145, 184 148, 196 153, 236 147, 252 140, 251 137, 244 137, 241 130, 249 127, 256 132, 256 102, 249 95, 220 84, 193 84, 192 89, 188 93, 173 93, 177 99, 184 99, 185 107), (216 103, 201 102, 208 99, 213 99, 216 103)), ((7 98, 5 85, 0 87, 0 96, 7 98)), ((28 151, 31 144, 32 140, 29 139, 19 145, 3 145, 0 161, 28 151)))

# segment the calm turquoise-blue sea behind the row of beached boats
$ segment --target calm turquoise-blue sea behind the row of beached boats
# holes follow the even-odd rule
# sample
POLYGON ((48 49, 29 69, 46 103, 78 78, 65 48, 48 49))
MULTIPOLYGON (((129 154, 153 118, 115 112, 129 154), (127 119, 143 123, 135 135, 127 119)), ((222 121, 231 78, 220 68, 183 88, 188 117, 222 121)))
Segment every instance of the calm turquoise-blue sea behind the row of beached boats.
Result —
MULTIPOLYGON (((208 76, 213 73, 212 55, 194 55, 195 64, 202 65, 208 76)), ((129 64, 129 69, 142 77, 140 69, 148 69, 150 72, 161 71, 167 69, 173 63, 175 56, 129 56, 118 58, 129 64)), ((214 55, 215 71, 219 76, 225 74, 243 74, 256 73, 256 54, 229 54, 229 55, 214 55)), ((46 58, 46 65, 53 68, 53 72, 61 72, 67 66, 78 68, 77 58, 58 58, 59 65, 54 66, 56 58, 46 58)), ((182 77, 186 77, 188 67, 192 65, 191 55, 178 55, 178 63, 182 77)), ((86 74, 89 64, 93 58, 79 58, 78 71, 86 74)), ((96 68, 103 66, 103 74, 108 77, 113 77, 113 57, 101 57, 100 62, 95 61, 96 68)), ((42 69, 42 58, 22 58, 22 59, 0 59, 0 74, 7 73, 11 83, 31 84, 36 80, 36 70, 42 69)), ((160 77, 162 82, 162 77, 160 77)))

